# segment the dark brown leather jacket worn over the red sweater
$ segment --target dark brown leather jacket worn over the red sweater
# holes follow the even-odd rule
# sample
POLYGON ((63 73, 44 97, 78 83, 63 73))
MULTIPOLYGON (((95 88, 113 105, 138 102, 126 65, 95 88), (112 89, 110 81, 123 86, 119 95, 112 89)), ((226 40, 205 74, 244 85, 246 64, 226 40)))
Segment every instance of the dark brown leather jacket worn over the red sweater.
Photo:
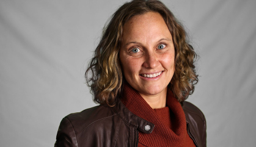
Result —
MULTIPOLYGON (((203 113, 190 102, 181 104, 187 130, 196 146, 206 146, 206 121, 203 113)), ((137 146, 138 131, 150 134, 154 124, 137 117, 121 101, 114 107, 96 106, 63 118, 56 146, 137 146), (145 130, 149 125, 150 130, 145 130)))

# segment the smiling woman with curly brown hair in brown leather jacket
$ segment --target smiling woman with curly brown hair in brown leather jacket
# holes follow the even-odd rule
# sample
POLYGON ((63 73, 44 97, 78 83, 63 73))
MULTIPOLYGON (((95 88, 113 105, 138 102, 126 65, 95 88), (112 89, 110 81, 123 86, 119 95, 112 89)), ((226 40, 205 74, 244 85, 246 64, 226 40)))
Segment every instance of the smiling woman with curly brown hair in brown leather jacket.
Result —
POLYGON ((123 4, 86 71, 100 106, 72 113, 55 146, 206 146, 206 123, 185 102, 197 83, 196 53, 166 6, 123 4))

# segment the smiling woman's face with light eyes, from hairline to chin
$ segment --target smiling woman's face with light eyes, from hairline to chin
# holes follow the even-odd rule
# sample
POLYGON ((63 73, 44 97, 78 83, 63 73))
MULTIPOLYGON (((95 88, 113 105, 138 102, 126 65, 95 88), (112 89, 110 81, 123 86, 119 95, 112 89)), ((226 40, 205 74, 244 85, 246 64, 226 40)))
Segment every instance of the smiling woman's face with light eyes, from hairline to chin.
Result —
POLYGON ((166 95, 174 75, 174 43, 159 13, 136 15, 123 26, 120 62, 126 81, 143 97, 166 95))

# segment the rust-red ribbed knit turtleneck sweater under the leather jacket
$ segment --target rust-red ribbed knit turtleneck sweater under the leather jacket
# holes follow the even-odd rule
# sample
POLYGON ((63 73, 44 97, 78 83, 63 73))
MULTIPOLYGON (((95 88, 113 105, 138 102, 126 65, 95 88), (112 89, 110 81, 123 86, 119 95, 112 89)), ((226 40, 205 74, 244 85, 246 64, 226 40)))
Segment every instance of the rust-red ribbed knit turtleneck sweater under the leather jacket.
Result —
POLYGON ((135 115, 155 124, 151 134, 139 132, 138 146, 195 146, 186 131, 185 113, 172 91, 167 91, 163 109, 152 109, 130 85, 125 84, 121 101, 135 115))

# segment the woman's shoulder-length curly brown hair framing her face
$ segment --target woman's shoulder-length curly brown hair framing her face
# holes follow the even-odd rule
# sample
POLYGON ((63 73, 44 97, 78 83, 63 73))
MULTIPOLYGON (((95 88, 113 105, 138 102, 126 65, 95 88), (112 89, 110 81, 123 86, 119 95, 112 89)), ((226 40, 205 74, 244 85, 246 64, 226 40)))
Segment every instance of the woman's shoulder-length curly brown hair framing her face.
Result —
POLYGON ((158 0, 133 0, 123 4, 111 17, 103 29, 100 43, 86 70, 86 82, 98 104, 114 106, 122 93, 123 74, 119 60, 123 25, 135 15, 157 12, 163 18, 172 35, 175 47, 175 72, 169 88, 178 101, 183 102, 194 92, 198 82, 196 74, 197 54, 188 43, 182 24, 172 12, 158 0))

